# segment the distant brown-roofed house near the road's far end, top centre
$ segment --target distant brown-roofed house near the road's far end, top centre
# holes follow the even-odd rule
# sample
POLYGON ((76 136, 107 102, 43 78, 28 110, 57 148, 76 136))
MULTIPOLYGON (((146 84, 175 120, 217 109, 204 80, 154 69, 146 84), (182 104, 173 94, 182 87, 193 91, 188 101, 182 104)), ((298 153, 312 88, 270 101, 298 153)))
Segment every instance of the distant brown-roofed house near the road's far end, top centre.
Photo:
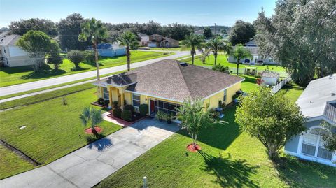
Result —
POLYGON ((147 42, 148 47, 152 48, 175 48, 179 47, 179 41, 165 37, 158 34, 153 34, 151 36, 148 36, 149 41, 147 42))

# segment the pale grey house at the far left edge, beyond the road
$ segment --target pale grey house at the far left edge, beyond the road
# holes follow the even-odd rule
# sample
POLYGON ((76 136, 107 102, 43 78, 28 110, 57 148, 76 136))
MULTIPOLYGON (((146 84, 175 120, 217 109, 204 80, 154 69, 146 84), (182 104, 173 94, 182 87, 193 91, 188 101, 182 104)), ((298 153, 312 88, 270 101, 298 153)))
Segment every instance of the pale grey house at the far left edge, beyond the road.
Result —
POLYGON ((36 59, 29 57, 28 52, 15 45, 20 37, 16 34, 8 34, 8 32, 0 34, 1 66, 14 67, 36 64, 36 59))

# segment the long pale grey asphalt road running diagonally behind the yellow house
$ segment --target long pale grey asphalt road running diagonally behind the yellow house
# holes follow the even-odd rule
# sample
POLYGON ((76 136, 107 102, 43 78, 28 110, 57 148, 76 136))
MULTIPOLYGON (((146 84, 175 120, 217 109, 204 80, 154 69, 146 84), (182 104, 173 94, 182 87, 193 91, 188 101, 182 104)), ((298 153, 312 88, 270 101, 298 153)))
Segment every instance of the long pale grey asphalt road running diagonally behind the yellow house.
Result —
MULTIPOLYGON (((133 63, 131 64, 131 68, 137 68, 140 66, 145 66, 148 64, 153 64, 155 62, 158 62, 162 59, 176 59, 179 57, 183 57, 185 55, 190 55, 189 51, 176 51, 174 52, 174 55, 169 55, 166 57, 159 57, 156 59, 149 59, 146 61, 142 61, 142 62, 137 62, 137 63, 133 63)), ((104 74, 109 74, 109 73, 114 73, 114 72, 118 72, 118 71, 125 71, 127 70, 127 65, 120 65, 120 66, 113 66, 110 68, 103 68, 100 69, 100 75, 104 75, 104 74)), ((20 84, 20 85, 10 85, 7 87, 0 87, 0 96, 6 96, 8 94, 16 94, 16 93, 20 93, 20 92, 27 92, 29 90, 32 89, 39 89, 39 88, 43 88, 43 87, 49 87, 52 85, 60 85, 60 84, 64 84, 66 82, 73 82, 76 80, 83 80, 85 78, 92 78, 94 76, 97 75, 97 71, 87 71, 84 73, 77 73, 77 74, 73 74, 73 75, 64 75, 64 76, 60 76, 57 78, 50 78, 50 79, 45 79, 45 80, 38 80, 35 82, 27 82, 24 84, 20 84)))

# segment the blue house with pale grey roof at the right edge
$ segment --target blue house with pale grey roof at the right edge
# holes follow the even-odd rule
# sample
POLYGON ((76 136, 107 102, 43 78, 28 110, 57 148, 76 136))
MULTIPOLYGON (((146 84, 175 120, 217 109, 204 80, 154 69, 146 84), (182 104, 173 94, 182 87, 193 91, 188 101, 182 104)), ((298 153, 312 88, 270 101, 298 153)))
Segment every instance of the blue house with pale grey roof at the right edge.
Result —
POLYGON ((306 117, 307 132, 288 140, 285 152, 302 159, 336 166, 336 152, 326 150, 321 123, 328 122, 336 132, 336 74, 313 80, 296 101, 306 117), (334 163, 332 163, 334 161, 334 163))

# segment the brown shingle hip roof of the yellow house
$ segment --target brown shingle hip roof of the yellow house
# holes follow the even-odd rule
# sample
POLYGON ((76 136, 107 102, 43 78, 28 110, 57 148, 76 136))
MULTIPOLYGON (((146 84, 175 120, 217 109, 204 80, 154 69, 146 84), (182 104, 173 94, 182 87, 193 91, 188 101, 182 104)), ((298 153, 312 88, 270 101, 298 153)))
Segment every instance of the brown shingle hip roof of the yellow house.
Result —
POLYGON ((127 91, 158 96, 173 101, 185 99, 203 99, 219 92, 225 87, 241 82, 242 78, 200 66, 182 64, 177 60, 165 59, 142 66, 124 75, 115 75, 113 82, 120 83, 121 78, 130 78, 136 82, 127 87, 127 91), (134 76, 136 75, 136 76, 134 76))

